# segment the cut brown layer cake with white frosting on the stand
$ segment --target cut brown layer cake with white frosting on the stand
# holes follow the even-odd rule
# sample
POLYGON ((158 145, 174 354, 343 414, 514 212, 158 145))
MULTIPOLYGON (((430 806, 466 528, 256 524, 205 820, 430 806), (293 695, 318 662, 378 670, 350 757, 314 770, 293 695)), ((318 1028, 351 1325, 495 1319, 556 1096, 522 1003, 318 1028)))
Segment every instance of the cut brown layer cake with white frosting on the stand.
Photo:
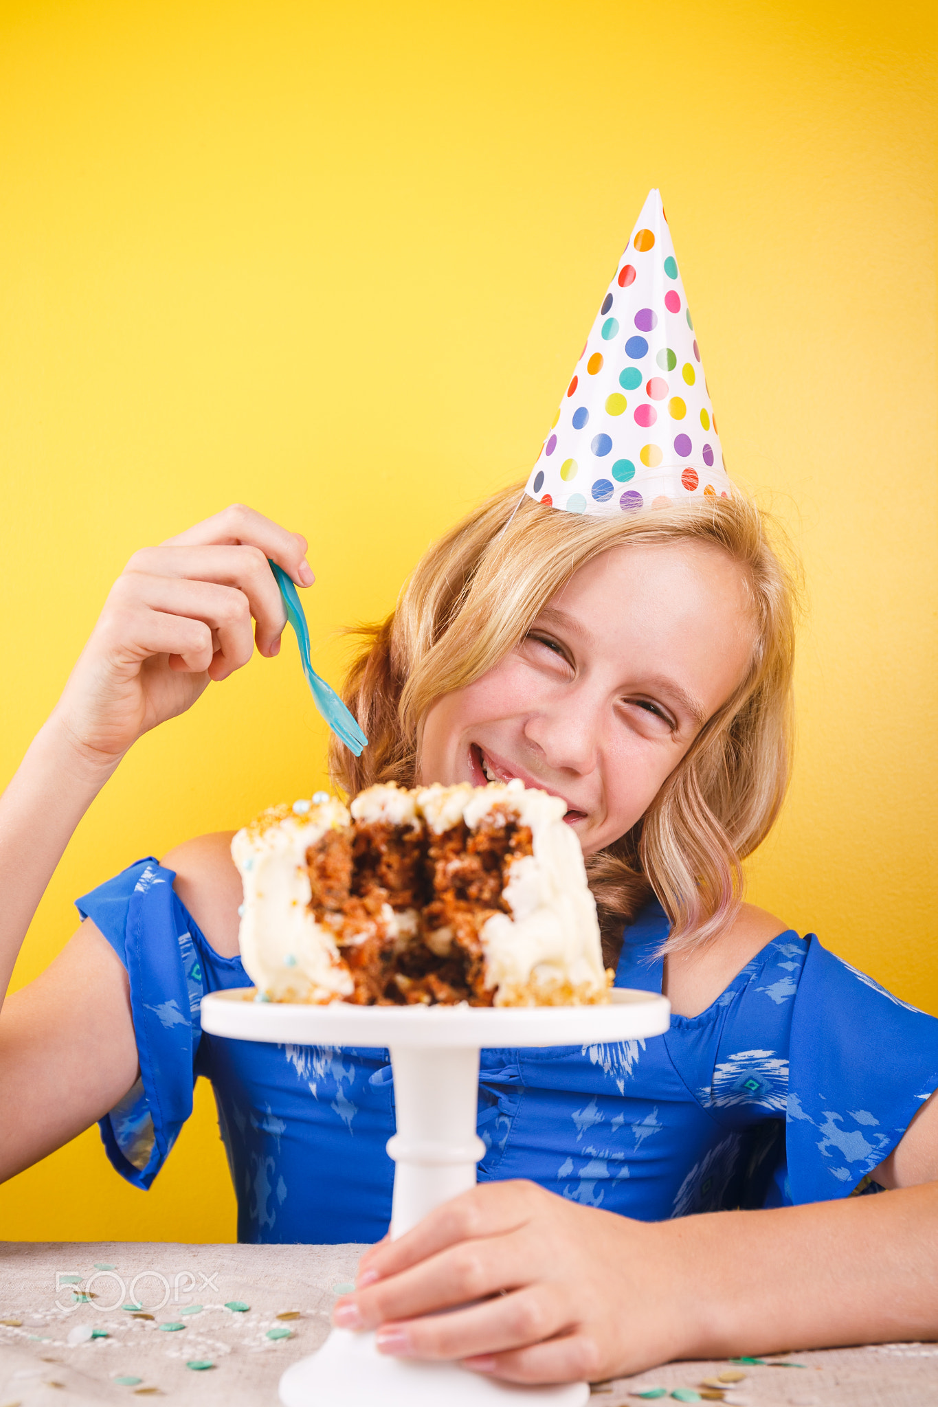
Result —
POLYGON ((232 841, 260 1000, 606 1002, 596 905, 565 803, 520 781, 370 787, 273 806, 232 841))

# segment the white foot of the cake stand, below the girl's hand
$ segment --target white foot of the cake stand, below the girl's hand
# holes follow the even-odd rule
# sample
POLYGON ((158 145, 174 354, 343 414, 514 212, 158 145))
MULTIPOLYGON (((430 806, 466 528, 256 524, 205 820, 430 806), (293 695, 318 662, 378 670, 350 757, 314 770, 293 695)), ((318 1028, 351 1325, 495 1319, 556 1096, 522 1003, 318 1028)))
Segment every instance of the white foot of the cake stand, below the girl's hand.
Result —
POLYGON ((458 1363, 378 1354, 374 1334, 333 1328, 318 1354, 280 1379, 284 1407, 584 1407, 586 1383, 522 1387, 458 1363))

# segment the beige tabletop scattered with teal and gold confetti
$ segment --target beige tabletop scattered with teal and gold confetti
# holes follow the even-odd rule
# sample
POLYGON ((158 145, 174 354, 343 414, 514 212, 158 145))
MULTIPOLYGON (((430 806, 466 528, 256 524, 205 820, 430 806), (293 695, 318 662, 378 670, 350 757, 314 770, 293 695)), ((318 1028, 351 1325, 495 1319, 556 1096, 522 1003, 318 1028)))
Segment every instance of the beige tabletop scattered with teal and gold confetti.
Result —
MULTIPOLYGON (((322 1344, 332 1304, 350 1285, 361 1251, 0 1242, 0 1407, 142 1397, 173 1399, 179 1407, 276 1407, 280 1373, 322 1344), (122 1309, 134 1303, 152 1317, 122 1309), (89 1339, 94 1330, 98 1337, 89 1339), (212 1366, 194 1369, 193 1362, 212 1366)), ((827 1349, 733 1366, 745 1372, 733 1400, 751 1407, 938 1403, 938 1344, 827 1349)), ((651 1387, 668 1390, 667 1404, 674 1389, 696 1389, 730 1368, 726 1361, 668 1363, 595 1384, 591 1407, 637 1407, 634 1394, 651 1387)))

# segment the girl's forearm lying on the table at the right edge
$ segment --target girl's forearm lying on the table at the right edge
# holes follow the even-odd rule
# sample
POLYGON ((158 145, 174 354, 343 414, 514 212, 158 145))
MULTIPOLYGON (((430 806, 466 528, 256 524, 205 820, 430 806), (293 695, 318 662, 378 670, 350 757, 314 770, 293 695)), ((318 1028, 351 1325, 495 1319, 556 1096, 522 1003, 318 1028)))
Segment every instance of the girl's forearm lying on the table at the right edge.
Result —
POLYGON ((937 1182, 688 1217, 665 1234, 672 1273, 699 1296, 682 1356, 938 1338, 937 1182))

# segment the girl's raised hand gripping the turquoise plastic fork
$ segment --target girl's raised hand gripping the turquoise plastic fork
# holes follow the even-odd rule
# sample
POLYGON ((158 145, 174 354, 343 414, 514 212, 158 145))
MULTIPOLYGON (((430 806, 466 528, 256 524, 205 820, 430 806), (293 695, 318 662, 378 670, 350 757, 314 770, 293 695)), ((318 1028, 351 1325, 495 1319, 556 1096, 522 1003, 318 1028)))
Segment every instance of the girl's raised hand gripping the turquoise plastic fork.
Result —
POLYGON ((260 654, 277 654, 287 615, 267 557, 308 587, 305 552, 300 533, 240 504, 135 552, 51 722, 84 761, 113 770, 142 733, 184 713, 210 680, 246 664, 255 643, 260 654))

